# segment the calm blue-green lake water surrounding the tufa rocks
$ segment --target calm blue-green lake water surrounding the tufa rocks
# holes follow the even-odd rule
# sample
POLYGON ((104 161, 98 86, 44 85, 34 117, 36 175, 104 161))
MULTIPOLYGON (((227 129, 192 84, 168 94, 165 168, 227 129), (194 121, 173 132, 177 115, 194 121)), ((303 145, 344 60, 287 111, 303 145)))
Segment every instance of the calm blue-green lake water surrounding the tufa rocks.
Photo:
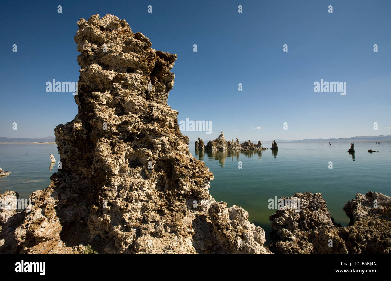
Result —
MULTIPOLYGON (((322 193, 328 210, 337 223, 346 226, 349 218, 342 210, 346 201, 357 192, 381 192, 391 195, 391 143, 355 143, 355 154, 347 152, 350 143, 279 143, 278 152, 272 150, 249 152, 197 152, 194 142, 190 152, 204 161, 213 172, 209 189, 217 201, 228 206, 237 205, 249 212, 249 220, 261 226, 269 242, 268 199, 288 197, 296 192, 322 193), (368 149, 379 152, 368 153, 368 149), (238 162, 242 162, 242 169, 238 162), (333 168, 329 169, 329 161, 333 168)), ((0 180, 0 193, 17 191, 20 198, 28 198, 38 189, 50 184, 50 175, 57 172, 57 164, 50 170, 49 154, 59 161, 57 145, 0 144, 0 167, 11 171, 0 180)))

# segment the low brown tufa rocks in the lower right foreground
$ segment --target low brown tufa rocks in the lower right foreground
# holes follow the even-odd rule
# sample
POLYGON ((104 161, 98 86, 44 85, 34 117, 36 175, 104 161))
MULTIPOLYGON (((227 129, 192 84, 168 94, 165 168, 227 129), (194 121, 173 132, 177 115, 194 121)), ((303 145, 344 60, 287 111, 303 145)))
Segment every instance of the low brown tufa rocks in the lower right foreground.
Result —
POLYGON ((350 217, 347 227, 334 222, 320 193, 296 193, 292 198, 300 198, 300 212, 280 209, 270 216, 273 253, 391 253, 390 197, 357 193, 343 208, 350 217))

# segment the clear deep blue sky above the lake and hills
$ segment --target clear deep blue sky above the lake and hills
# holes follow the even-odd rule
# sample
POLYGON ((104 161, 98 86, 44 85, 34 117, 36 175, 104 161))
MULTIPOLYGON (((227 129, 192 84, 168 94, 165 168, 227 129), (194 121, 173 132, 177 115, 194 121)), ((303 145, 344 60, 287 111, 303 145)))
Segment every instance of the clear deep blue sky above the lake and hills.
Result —
POLYGON ((178 55, 168 104, 179 121, 211 120, 214 132, 183 132, 190 140, 388 135, 390 13, 389 0, 4 2, 0 136, 54 136, 75 117, 72 93, 48 93, 45 83, 78 80, 76 21, 92 14, 125 19, 152 48, 178 55), (314 92, 321 79, 346 81, 346 95, 314 92))

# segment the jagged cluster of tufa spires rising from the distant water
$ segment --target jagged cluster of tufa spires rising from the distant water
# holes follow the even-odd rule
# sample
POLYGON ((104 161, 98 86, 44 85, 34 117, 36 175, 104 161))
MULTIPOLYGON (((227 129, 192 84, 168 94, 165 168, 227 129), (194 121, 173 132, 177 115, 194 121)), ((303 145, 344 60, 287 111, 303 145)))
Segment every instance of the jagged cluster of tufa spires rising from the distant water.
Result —
POLYGON ((242 144, 239 144, 239 140, 236 141, 226 141, 224 134, 221 132, 219 138, 214 141, 210 140, 206 145, 204 141, 198 138, 198 141, 195 141, 196 150, 265 150, 267 148, 262 147, 261 141, 258 141, 258 144, 252 143, 251 141, 245 141, 242 144))

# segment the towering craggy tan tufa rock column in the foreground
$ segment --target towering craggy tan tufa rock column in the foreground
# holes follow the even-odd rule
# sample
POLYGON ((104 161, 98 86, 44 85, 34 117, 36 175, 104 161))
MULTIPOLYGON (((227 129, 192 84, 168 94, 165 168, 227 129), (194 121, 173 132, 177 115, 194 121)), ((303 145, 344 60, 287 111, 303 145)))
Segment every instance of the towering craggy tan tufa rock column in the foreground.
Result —
POLYGON ((176 55, 109 14, 77 24, 78 113, 55 129, 62 169, 31 212, 1 222, 0 252, 267 253, 248 213, 210 196, 212 172, 167 105, 176 55))

